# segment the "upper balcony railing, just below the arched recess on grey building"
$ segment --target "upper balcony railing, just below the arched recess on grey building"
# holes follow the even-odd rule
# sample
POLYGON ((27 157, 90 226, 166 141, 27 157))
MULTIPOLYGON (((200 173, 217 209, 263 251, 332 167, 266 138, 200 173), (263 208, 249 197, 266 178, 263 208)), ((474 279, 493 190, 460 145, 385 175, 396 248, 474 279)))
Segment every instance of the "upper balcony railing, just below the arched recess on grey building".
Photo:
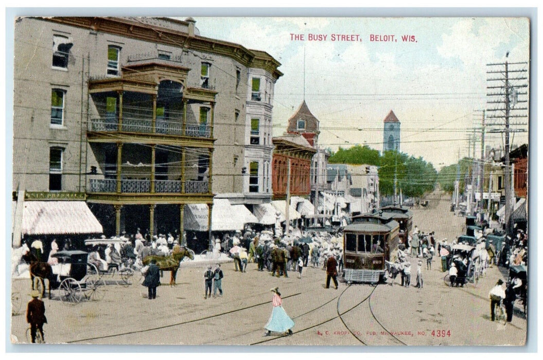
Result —
MULTIPOLYGON (((150 134, 153 133, 153 121, 150 119, 123 118, 122 131, 150 134)), ((119 124, 116 118, 94 118, 89 124, 89 131, 117 132, 119 124)), ((177 136, 190 136, 197 138, 210 138, 211 127, 209 125, 186 124, 185 134, 181 121, 171 119, 156 119, 155 133, 177 136)))

